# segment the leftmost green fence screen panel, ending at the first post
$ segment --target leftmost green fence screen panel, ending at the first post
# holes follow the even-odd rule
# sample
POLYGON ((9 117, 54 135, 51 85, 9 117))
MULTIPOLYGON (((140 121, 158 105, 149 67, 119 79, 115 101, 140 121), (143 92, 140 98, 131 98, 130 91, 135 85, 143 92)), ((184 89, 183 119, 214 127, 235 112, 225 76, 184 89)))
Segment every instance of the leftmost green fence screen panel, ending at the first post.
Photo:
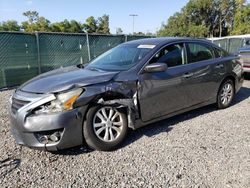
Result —
POLYGON ((38 75, 36 37, 0 34, 0 87, 19 85, 38 75))

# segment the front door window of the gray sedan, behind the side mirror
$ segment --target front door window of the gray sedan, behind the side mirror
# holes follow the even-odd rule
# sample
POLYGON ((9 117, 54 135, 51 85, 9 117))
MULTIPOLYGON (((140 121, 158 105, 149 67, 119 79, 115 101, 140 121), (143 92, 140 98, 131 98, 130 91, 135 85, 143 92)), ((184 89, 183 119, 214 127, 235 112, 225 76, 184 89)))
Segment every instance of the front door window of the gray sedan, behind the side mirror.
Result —
POLYGON ((183 43, 172 44, 163 48, 151 59, 149 63, 166 63, 168 67, 184 64, 183 43))

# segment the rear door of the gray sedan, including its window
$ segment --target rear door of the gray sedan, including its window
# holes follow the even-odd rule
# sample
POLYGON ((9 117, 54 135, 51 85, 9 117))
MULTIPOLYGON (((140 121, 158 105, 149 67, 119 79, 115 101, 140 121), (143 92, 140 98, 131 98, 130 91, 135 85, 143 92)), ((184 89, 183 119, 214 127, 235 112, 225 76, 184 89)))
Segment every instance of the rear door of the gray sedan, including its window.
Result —
POLYGON ((187 72, 183 80, 188 96, 188 106, 215 100, 218 82, 225 72, 225 65, 213 47, 204 43, 186 43, 187 72))

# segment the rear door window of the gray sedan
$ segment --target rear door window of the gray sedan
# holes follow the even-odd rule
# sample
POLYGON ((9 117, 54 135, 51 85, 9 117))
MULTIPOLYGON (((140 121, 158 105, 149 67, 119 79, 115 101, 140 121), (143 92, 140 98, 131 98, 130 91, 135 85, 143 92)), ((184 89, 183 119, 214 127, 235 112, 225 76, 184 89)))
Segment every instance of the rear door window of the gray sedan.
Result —
POLYGON ((212 48, 197 43, 188 43, 188 63, 195 63, 199 61, 213 59, 213 50, 212 48))

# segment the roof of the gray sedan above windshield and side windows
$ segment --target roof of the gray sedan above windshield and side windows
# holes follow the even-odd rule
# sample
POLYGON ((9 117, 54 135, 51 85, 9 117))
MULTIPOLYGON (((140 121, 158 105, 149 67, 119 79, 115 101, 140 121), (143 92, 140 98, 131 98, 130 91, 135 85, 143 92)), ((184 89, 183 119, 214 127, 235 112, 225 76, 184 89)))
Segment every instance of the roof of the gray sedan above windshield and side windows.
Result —
POLYGON ((127 45, 164 45, 170 42, 178 42, 178 41, 185 41, 185 42, 206 42, 211 44, 210 41, 206 39, 196 39, 196 38, 188 38, 188 37, 159 37, 159 38, 145 38, 139 40, 133 40, 126 42, 124 44, 127 45))

